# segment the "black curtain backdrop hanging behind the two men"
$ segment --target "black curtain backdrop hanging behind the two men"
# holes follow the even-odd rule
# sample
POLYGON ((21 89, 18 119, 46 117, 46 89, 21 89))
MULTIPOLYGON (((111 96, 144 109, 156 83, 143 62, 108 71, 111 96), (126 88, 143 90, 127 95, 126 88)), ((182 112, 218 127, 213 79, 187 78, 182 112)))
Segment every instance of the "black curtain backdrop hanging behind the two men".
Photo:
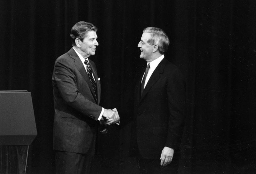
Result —
MULTIPOLYGON (((1 0, 0 90, 28 90, 34 105, 38 135, 27 173, 55 171, 52 71, 81 20, 98 27, 92 59, 101 78, 101 106, 116 107, 121 121, 131 115, 127 86, 145 64, 137 48, 142 30, 163 28, 171 40, 167 57, 187 82, 180 173, 255 173, 255 0, 1 0)), ((136 171, 127 156, 130 127, 112 125, 107 135, 99 134, 93 173, 136 171)), ((17 147, 1 146, 1 173, 15 173, 15 152, 17 147)))

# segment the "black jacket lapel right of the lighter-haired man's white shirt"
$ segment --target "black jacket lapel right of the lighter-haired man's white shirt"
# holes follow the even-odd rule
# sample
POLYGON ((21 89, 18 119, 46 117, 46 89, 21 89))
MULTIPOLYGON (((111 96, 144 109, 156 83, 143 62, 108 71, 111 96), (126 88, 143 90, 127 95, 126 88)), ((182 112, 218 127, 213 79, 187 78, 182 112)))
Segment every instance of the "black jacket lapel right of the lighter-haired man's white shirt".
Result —
MULTIPOLYGON (((160 77, 160 74, 163 73, 164 71, 164 67, 166 65, 167 60, 163 59, 158 66, 156 67, 155 71, 153 72, 153 74, 150 76, 148 83, 145 86, 145 89, 143 90, 142 96, 140 98, 143 99, 145 97, 145 95, 149 92, 149 90, 151 89, 151 87, 157 82, 157 80, 160 77)), ((141 77, 142 78, 142 77, 141 77)), ((141 79, 140 79, 141 80, 141 79)))

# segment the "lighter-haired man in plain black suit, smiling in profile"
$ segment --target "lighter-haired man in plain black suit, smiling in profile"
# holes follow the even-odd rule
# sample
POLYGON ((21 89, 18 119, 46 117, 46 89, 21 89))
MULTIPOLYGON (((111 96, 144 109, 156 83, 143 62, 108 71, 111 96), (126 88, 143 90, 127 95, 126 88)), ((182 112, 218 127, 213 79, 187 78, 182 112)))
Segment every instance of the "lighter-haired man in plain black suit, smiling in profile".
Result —
POLYGON ((160 28, 145 28, 138 44, 147 67, 135 85, 135 150, 141 173, 177 173, 185 118, 185 82, 164 58, 169 38, 160 28), (177 152, 177 153, 176 153, 177 152), (176 155, 176 156, 175 156, 176 155))

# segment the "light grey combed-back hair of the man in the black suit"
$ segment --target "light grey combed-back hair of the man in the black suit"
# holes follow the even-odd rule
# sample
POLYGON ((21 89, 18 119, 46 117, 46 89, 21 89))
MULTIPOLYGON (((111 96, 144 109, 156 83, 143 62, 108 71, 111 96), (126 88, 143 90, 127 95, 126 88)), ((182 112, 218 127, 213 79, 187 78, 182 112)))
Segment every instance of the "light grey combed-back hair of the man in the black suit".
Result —
POLYGON ((148 39, 150 45, 157 44, 158 50, 161 54, 168 51, 168 46, 170 44, 169 38, 161 28, 148 27, 143 30, 143 33, 150 33, 151 38, 148 39))

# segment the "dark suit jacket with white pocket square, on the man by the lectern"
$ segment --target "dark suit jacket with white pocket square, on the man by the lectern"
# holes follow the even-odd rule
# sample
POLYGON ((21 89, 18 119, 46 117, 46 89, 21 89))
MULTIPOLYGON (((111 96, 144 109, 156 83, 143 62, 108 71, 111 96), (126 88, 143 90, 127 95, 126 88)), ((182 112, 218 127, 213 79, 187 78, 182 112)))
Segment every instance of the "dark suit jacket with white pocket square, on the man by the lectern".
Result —
POLYGON ((85 154, 92 146, 101 113, 100 82, 90 60, 98 99, 84 65, 71 48, 55 61, 52 85, 54 97, 53 149, 85 154))

